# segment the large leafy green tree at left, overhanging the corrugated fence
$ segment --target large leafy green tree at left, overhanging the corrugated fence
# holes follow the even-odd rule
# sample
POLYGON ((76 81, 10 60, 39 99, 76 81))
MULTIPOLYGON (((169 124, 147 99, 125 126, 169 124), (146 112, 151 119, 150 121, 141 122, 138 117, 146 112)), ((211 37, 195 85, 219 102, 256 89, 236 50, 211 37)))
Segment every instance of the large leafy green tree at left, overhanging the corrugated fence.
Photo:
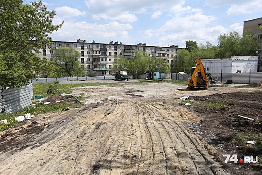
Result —
POLYGON ((0 0, 0 86, 22 86, 39 71, 39 58, 30 52, 51 44, 48 35, 62 24, 53 25, 55 11, 39 2, 0 0))

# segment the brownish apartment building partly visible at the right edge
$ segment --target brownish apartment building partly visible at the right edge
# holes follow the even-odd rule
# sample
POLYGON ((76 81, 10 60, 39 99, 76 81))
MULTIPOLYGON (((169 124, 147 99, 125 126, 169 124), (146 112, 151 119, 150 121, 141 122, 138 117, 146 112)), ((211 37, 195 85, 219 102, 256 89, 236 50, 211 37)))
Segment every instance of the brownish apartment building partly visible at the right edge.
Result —
POLYGON ((258 56, 259 56, 258 71, 262 72, 262 32, 259 29, 260 26, 262 26, 262 17, 257 18, 257 19, 247 20, 247 21, 244 21, 243 31, 247 29, 251 29, 255 37, 260 42, 260 47, 258 51, 258 56))

